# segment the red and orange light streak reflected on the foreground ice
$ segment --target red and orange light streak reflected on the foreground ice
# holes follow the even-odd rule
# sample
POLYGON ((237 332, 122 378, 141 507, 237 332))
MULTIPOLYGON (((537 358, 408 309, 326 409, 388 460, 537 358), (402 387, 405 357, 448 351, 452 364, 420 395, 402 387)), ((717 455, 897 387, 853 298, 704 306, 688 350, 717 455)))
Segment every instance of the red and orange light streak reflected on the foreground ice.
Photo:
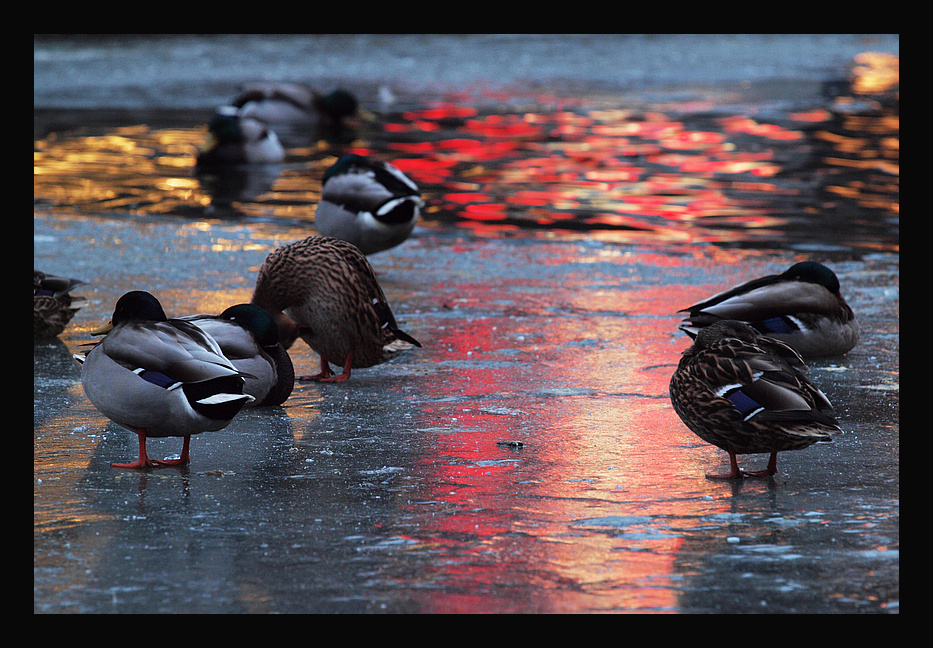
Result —
POLYGON ((727 506, 699 492, 715 449, 692 447, 667 399, 686 341, 672 343, 665 316, 696 287, 638 271, 676 271, 676 257, 612 255, 558 245, 515 261, 568 268, 573 289, 507 277, 437 288, 457 295, 449 308, 500 312, 456 318, 432 341, 442 369, 424 384, 428 450, 408 504, 413 539, 434 555, 419 576, 425 611, 677 609, 683 526, 727 506))

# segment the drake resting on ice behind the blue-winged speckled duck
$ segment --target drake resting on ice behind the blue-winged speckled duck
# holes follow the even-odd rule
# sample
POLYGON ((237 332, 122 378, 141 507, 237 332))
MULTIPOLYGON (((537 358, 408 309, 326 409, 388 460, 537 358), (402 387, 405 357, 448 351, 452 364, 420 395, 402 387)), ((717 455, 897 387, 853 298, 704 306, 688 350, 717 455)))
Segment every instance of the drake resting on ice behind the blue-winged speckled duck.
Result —
POLYGON ((695 338, 713 322, 745 322, 804 357, 841 355, 858 342, 855 314, 839 292, 835 273, 815 261, 754 279, 679 311, 680 329, 695 338))

